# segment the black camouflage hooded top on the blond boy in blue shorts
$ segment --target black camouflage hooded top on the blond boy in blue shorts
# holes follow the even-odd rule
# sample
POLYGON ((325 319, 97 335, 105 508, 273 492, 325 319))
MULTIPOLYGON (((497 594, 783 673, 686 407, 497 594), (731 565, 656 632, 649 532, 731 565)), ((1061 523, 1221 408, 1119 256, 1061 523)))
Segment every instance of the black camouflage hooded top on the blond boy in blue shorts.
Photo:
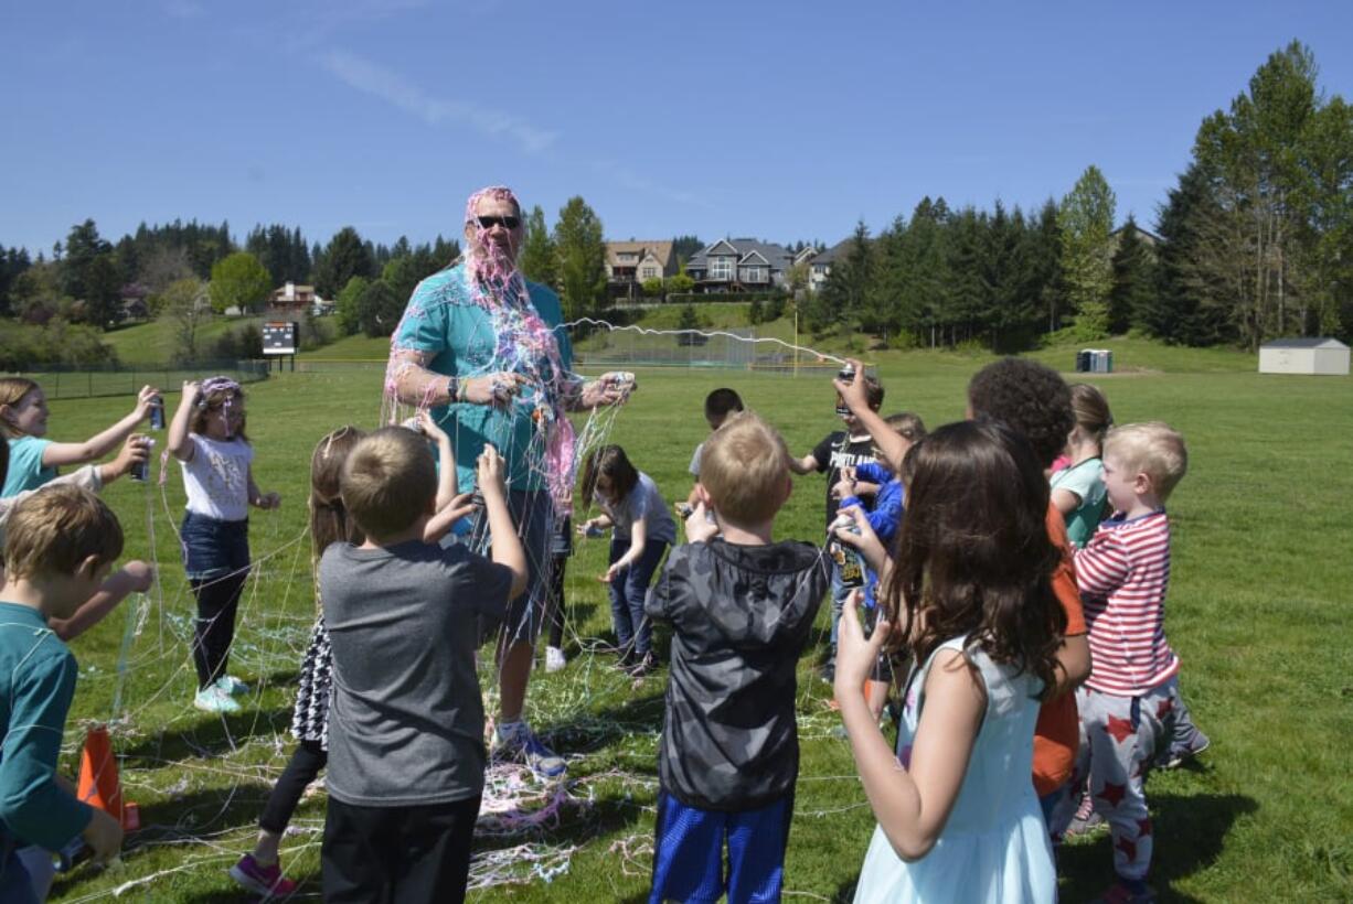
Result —
POLYGON ((687 807, 746 811, 793 792, 794 668, 829 561, 808 543, 718 538, 667 557, 644 608, 672 626, 658 774, 687 807))

